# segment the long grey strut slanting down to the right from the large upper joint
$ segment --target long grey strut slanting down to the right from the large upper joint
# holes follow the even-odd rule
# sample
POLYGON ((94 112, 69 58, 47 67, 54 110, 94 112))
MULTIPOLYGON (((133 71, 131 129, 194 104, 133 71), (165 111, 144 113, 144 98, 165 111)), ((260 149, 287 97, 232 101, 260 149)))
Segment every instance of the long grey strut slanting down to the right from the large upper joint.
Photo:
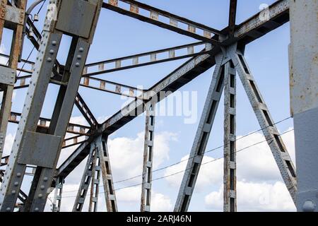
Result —
POLYGON ((267 108, 266 103, 261 96, 259 88, 257 87, 257 83, 252 76, 251 70, 247 66, 245 57, 242 55, 242 52, 236 49, 236 46, 233 45, 230 47, 230 49, 233 64, 235 65, 235 69, 240 76, 240 80, 242 81, 242 85, 245 88, 249 102, 251 102, 251 105, 254 109, 255 115, 259 121, 259 126, 262 128, 278 169, 281 172, 281 176, 283 177, 283 181, 285 182, 290 196, 293 198, 295 203, 295 194, 297 191, 296 172, 293 162, 290 159, 288 150, 285 148, 285 144, 283 143, 280 133, 278 132, 276 125, 271 118, 269 109, 267 108))

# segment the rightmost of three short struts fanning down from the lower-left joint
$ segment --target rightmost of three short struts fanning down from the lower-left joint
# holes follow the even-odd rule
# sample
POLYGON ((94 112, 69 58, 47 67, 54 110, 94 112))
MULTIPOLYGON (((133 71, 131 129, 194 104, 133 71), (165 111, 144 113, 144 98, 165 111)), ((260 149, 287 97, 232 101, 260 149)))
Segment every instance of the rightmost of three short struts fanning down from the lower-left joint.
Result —
POLYGON ((102 184, 104 187, 105 203, 108 212, 117 212, 117 201, 112 180, 112 169, 110 167, 110 155, 107 148, 107 137, 99 136, 96 139, 98 155, 100 157, 100 168, 102 170, 102 184))

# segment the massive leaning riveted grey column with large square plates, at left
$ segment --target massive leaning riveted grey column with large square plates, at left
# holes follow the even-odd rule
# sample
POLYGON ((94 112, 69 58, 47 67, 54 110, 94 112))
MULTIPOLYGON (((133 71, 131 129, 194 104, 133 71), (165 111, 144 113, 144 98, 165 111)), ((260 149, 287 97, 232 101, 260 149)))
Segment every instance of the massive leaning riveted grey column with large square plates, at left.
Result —
POLYGON ((37 212, 45 208, 47 196, 52 191, 54 171, 101 5, 101 0, 50 1, 32 84, 26 95, 23 114, 1 186, 1 211, 14 210, 27 165, 35 165, 37 169, 24 210, 37 212), (57 20, 54 13, 57 13, 57 20), (72 35, 69 56, 61 79, 67 85, 60 86, 49 130, 43 133, 37 131, 37 123, 63 34, 72 35))

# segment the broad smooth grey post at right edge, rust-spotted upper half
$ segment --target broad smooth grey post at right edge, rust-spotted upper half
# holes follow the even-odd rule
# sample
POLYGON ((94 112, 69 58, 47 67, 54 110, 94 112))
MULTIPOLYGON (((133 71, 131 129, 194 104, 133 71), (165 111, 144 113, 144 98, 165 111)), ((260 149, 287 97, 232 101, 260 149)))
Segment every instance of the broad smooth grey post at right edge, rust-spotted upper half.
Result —
POLYGON ((297 209, 318 211, 318 1, 290 7, 290 104, 295 127, 297 209))

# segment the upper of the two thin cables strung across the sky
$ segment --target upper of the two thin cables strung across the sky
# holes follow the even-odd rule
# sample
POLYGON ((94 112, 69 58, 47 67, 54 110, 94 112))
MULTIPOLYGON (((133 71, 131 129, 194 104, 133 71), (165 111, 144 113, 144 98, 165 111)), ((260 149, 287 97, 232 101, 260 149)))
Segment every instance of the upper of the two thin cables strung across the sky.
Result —
MULTIPOLYGON (((273 125, 281 124, 283 121, 287 121, 288 119, 291 119, 291 117, 287 117, 287 118, 285 118, 285 119, 282 119, 282 120, 280 120, 280 121, 277 121, 277 122, 276 122, 275 124, 273 124, 273 125)), ((247 133, 246 135, 244 135, 244 136, 242 136, 242 137, 240 137, 240 138, 235 139, 235 141, 239 141, 239 140, 241 140, 242 138, 246 138, 247 136, 251 136, 252 134, 257 133, 257 132, 259 132, 259 131, 262 131, 263 129, 266 129, 266 128, 268 128, 268 127, 270 127, 270 126, 265 126, 264 128, 261 128, 261 129, 259 129, 259 130, 257 130, 257 131, 252 132, 252 133, 247 133)), ((229 144, 230 144, 230 143, 226 143, 225 145, 229 145, 229 144)), ((220 148, 223 148, 225 145, 220 145, 220 146, 218 146, 217 148, 213 148, 213 149, 211 149, 211 150, 208 150, 208 151, 204 152, 204 154, 205 154, 205 153, 211 153, 211 152, 213 152, 213 151, 216 151, 216 150, 218 150, 218 149, 220 149, 220 148)), ((185 161, 187 161, 187 160, 190 160, 190 159, 192 159, 192 158, 194 158, 194 157, 196 157, 196 156, 199 156, 199 155, 194 155, 193 157, 188 157, 187 159, 180 160, 179 162, 175 162, 175 163, 173 163, 172 165, 167 165, 167 166, 165 166, 165 167, 161 167, 161 168, 159 168, 159 169, 155 169, 155 170, 153 170, 153 172, 158 172, 158 171, 161 171, 161 170, 163 170, 163 169, 170 168, 170 167, 172 167, 172 166, 175 166, 175 165, 178 165, 178 164, 180 164, 180 163, 182 163, 182 162, 185 162, 185 161)), ((131 179, 136 179, 136 178, 142 177, 142 176, 143 176, 143 174, 139 174, 139 175, 134 176, 134 177, 129 177, 129 178, 127 178, 127 179, 122 179, 122 180, 119 180, 119 181, 117 181, 117 182, 113 182, 113 184, 119 184, 119 183, 122 183, 122 182, 127 182, 127 181, 130 181, 131 179)), ((100 187, 102 187, 102 185, 101 185, 100 187)), ((64 191, 64 193, 66 193, 66 192, 74 192, 74 191, 64 191)))

